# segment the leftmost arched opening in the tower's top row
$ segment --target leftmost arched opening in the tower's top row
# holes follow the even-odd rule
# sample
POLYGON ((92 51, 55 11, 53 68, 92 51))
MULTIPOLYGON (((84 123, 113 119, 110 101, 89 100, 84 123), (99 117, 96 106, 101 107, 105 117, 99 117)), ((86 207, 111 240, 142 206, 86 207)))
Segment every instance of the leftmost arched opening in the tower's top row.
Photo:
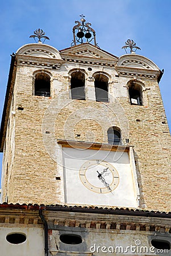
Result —
POLYGON ((35 76, 35 95, 36 96, 51 96, 50 77, 43 72, 37 73, 35 76))

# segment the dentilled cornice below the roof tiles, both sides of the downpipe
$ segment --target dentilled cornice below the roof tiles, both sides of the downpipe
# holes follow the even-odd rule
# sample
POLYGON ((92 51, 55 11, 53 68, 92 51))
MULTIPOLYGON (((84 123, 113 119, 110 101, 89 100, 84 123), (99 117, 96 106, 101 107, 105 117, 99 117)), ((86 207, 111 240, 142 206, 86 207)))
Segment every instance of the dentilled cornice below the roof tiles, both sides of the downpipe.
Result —
MULTIPOLYGON (((34 207, 32 207, 34 208, 34 207)), ((143 232, 171 233, 171 220, 168 218, 120 216, 94 213, 70 213, 43 211, 49 229, 60 227, 103 229, 103 230, 137 230, 143 232)), ((41 225, 39 207, 34 209, 1 209, 0 226, 41 225)))

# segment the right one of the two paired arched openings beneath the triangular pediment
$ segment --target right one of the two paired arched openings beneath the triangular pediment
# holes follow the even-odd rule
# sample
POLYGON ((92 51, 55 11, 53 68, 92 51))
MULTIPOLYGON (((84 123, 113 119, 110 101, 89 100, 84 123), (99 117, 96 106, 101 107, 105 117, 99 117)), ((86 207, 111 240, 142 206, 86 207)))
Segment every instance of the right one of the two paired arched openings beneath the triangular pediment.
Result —
POLYGON ((108 77, 99 73, 94 76, 96 101, 109 102, 108 97, 108 77))

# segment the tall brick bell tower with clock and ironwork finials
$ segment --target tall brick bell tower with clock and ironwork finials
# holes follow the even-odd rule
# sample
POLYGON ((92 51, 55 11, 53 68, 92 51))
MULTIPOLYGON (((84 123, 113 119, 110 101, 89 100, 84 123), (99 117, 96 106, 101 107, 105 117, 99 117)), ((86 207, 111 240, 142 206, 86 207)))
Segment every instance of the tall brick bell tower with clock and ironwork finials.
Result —
POLYGON ((83 15, 69 48, 44 44, 49 38, 40 29, 31 38, 38 42, 11 56, 1 123, 2 201, 48 205, 52 255, 96 255, 97 234, 108 250, 111 241, 130 245, 135 234, 150 247, 157 227, 164 230, 157 241, 170 245, 163 72, 135 52, 133 40, 120 57, 99 48, 83 15), (66 233, 80 242, 69 247, 75 238, 66 233))

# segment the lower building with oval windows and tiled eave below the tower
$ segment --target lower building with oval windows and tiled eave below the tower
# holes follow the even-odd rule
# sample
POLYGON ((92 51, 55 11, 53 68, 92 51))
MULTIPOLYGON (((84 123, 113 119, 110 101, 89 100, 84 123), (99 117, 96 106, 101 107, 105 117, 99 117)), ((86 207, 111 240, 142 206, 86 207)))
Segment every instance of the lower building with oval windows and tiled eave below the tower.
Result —
POLYGON ((170 255, 171 213, 0 205, 1 255, 170 255))

